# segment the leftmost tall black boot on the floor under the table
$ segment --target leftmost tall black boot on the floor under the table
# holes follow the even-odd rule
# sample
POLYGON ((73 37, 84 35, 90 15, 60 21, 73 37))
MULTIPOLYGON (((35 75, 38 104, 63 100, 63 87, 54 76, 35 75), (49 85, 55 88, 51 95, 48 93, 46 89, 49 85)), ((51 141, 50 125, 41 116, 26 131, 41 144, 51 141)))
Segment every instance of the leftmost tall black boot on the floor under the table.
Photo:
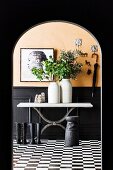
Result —
POLYGON ((16 141, 17 141, 17 144, 21 144, 21 136, 22 136, 22 124, 16 122, 16 141))

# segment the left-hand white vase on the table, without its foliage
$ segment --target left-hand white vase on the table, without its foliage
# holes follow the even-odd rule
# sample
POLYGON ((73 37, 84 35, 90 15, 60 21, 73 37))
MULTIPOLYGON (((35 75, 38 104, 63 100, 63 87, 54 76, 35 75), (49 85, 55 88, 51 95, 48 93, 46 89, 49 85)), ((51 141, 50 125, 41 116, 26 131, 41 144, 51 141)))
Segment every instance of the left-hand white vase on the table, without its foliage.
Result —
POLYGON ((60 103, 60 86, 57 82, 50 82, 48 86, 48 103, 60 103))

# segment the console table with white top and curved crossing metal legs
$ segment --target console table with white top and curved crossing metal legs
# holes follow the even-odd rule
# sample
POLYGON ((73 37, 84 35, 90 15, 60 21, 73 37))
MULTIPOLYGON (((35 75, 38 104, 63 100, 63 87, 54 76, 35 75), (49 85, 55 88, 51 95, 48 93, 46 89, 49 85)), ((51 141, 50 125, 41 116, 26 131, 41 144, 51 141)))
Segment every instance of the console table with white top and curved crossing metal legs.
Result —
POLYGON ((65 130, 65 127, 61 125, 61 122, 65 120, 65 118, 75 109, 75 108, 91 108, 93 105, 91 103, 19 103, 17 107, 28 107, 33 108, 39 114, 39 116, 47 123, 41 133, 48 128, 49 126, 59 126, 65 130), (57 121, 51 121, 44 117, 43 113, 41 113, 41 108, 67 108, 66 114, 57 121))

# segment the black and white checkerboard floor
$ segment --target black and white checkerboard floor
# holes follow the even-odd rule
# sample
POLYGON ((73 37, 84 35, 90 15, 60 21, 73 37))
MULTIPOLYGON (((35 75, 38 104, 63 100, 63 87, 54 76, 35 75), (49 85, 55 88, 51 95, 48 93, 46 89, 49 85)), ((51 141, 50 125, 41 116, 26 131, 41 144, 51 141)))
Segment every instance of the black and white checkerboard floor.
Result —
POLYGON ((39 145, 13 142, 13 170, 101 170, 101 141, 42 140, 39 145))

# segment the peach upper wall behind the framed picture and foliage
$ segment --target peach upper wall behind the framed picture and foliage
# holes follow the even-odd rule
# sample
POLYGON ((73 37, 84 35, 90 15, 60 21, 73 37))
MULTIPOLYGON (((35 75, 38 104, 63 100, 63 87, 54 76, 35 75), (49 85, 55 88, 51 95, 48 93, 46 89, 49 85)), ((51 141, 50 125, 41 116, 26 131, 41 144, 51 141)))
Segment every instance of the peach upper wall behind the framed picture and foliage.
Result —
POLYGON ((77 80, 71 80, 73 87, 91 87, 93 78, 93 68, 96 58, 91 57, 91 45, 98 45, 99 67, 97 72, 96 86, 101 86, 101 48, 95 37, 79 25, 51 21, 35 25, 24 32, 17 41, 13 51, 13 86, 48 86, 49 82, 20 82, 20 48, 54 48, 57 57, 60 50, 75 50, 74 41, 82 38, 82 51, 88 53, 88 57, 80 57, 79 60, 84 64, 83 72, 79 74, 77 80), (90 61, 92 73, 87 75, 88 66, 85 60, 90 61))

